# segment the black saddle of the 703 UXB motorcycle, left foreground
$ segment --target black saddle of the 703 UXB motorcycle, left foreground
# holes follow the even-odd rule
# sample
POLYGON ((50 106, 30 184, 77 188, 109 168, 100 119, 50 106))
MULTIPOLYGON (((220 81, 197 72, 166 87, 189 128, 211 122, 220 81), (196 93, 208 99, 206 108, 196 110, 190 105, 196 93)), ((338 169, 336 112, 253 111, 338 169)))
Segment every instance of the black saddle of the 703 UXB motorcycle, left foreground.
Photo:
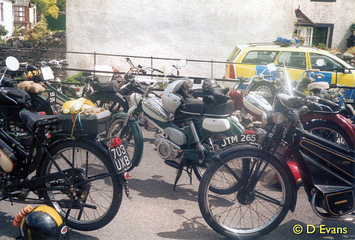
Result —
POLYGON ((20 112, 20 118, 27 125, 29 130, 34 131, 38 125, 56 122, 58 115, 39 115, 34 112, 22 110, 20 112))

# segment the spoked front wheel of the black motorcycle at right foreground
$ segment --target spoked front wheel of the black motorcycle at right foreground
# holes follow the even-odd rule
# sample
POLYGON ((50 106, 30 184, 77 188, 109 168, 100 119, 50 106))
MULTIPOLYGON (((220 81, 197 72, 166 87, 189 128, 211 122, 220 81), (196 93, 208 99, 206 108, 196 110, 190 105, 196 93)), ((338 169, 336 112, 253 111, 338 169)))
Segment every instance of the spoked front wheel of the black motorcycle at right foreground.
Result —
POLYGON ((258 158, 260 151, 258 147, 247 147, 223 158, 240 177, 239 181, 220 161, 215 161, 199 184, 201 214, 213 230, 225 237, 255 239, 265 235, 280 224, 293 204, 291 176, 275 158, 270 158, 266 165, 265 160, 258 158), (243 178, 243 168, 254 163, 261 163, 260 169, 266 167, 265 171, 254 189, 245 189, 248 180, 243 178), (237 187, 233 193, 221 195, 210 190, 212 184, 237 187))

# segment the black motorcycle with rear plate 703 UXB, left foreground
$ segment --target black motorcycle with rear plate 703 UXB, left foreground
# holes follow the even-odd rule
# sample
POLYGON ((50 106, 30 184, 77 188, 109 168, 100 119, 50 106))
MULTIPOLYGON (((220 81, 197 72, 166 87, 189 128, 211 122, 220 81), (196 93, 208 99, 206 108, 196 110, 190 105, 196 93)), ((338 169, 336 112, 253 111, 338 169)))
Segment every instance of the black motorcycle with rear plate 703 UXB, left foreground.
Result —
MULTIPOLYGON (((19 104, 16 99, 21 95, 5 88, 0 88, 0 94, 19 104)), ((107 115, 109 121, 108 111, 107 115)), ((68 116, 70 121, 71 116, 75 115, 68 116)), ((0 200, 47 204, 76 230, 106 226, 119 211, 123 187, 130 197, 126 169, 131 162, 121 140, 109 139, 109 147, 97 141, 99 132, 93 130, 97 124, 84 133, 65 131, 68 125, 60 115, 22 110, 18 118, 27 128, 30 147, 26 149, 0 124, 0 200), (29 197, 29 192, 38 199, 29 197)), ((78 121, 77 128, 87 123, 84 115, 78 121)))

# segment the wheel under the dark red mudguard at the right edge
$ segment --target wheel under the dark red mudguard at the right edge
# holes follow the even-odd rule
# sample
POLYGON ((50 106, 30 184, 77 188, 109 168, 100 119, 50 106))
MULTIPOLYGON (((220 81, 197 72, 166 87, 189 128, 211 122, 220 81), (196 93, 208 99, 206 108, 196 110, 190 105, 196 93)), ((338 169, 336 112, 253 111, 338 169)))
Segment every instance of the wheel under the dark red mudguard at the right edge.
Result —
POLYGON ((323 139, 327 139, 328 141, 332 141, 333 143, 342 145, 343 147, 354 149, 354 144, 352 143, 350 136, 336 123, 315 120, 306 123, 304 125, 304 130, 320 136, 323 139))

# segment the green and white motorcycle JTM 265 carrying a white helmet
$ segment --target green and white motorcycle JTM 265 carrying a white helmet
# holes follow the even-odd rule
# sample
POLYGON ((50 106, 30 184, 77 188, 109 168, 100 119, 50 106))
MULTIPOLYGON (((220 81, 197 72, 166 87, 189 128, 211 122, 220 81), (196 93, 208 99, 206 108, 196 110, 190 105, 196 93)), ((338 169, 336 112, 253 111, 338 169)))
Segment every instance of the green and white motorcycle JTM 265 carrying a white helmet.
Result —
MULTIPOLYGON (((184 66, 186 60, 180 60, 175 67, 184 66)), ((136 74, 140 71, 162 73, 159 69, 140 67, 136 74)), ((152 89, 160 83, 168 84, 169 80, 165 77, 163 80, 153 80, 146 88, 131 73, 126 73, 125 79, 128 83, 121 89, 134 85, 141 88, 143 95, 130 95, 133 105, 127 113, 119 112, 112 116, 107 136, 119 136, 123 145, 127 146, 132 160, 129 170, 140 164, 143 155, 143 136, 139 125, 156 132, 154 144, 158 156, 167 165, 178 169, 174 190, 183 170, 190 178, 194 171, 200 179, 204 167, 212 163, 212 156, 220 150, 219 143, 226 138, 239 134, 234 141, 256 141, 255 134, 244 134, 238 119, 231 117, 233 102, 226 96, 195 99, 188 93, 186 79, 177 79, 167 85, 161 97, 156 97, 152 89)))

